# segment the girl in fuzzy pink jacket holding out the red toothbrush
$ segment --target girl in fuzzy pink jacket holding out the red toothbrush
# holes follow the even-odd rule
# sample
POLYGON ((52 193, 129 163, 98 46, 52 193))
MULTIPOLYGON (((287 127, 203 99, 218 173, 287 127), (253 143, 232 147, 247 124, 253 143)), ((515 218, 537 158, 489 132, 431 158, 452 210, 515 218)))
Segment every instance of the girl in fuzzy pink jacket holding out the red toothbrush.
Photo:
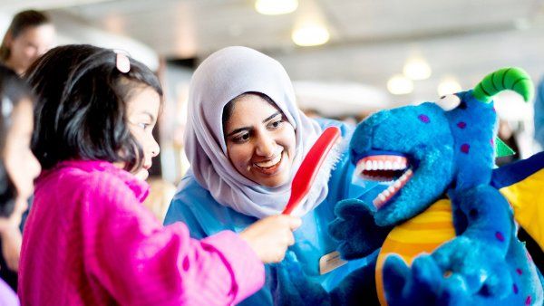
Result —
POLYGON ((151 131, 162 91, 140 62, 68 45, 45 53, 29 82, 44 171, 24 228, 23 304, 232 304, 263 285, 262 262, 281 260, 294 243, 297 218, 197 241, 141 206, 142 178, 159 153, 151 131))

